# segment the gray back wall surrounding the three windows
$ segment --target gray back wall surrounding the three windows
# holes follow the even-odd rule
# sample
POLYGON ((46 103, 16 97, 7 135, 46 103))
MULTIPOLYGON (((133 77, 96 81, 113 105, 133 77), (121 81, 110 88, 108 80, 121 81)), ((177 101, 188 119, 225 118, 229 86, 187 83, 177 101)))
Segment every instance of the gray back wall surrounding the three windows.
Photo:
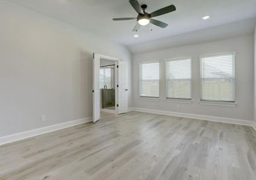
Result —
POLYGON ((254 105, 254 37, 252 35, 213 41, 204 44, 173 47, 133 55, 133 106, 143 109, 165 110, 170 112, 192 113, 197 115, 225 118, 253 119, 254 105), (236 107, 208 106, 199 104, 200 75, 199 55, 219 52, 237 52, 236 55, 236 107), (192 56, 192 104, 167 103, 164 101, 164 63, 163 59, 192 56), (143 61, 160 60, 160 102, 144 101, 139 97, 139 64, 143 61))

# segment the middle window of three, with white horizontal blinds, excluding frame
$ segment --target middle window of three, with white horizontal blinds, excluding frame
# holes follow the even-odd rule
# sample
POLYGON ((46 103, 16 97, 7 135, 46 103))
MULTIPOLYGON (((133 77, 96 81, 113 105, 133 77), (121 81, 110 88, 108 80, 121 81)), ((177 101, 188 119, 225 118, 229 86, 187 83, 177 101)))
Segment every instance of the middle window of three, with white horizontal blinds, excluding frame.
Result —
POLYGON ((166 98, 191 100, 191 58, 166 62, 166 98))

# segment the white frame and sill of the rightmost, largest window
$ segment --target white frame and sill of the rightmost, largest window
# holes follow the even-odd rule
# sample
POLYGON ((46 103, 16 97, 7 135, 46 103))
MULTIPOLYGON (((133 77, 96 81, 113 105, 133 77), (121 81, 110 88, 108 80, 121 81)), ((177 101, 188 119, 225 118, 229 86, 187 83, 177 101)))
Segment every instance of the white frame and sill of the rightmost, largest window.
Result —
POLYGON ((236 52, 222 52, 222 53, 211 53, 206 55, 199 56, 199 76, 200 76, 200 100, 199 104, 202 105, 210 105, 210 106, 229 106, 234 107, 236 106, 236 52), (234 67, 234 101, 223 101, 223 100, 202 100, 202 78, 201 78, 201 59, 207 58, 211 56, 222 56, 222 55, 233 55, 233 67, 234 67))

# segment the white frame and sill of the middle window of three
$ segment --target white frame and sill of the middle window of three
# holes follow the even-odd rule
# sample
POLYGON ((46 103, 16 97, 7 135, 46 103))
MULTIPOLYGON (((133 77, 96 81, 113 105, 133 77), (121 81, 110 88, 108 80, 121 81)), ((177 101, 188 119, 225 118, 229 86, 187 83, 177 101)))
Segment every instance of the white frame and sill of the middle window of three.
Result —
POLYGON ((191 104, 192 103, 192 56, 184 56, 184 57, 178 57, 178 58, 170 58, 170 59, 165 59, 164 60, 164 85, 165 85, 165 101, 168 103, 184 103, 184 104, 191 104), (190 59, 190 77, 191 77, 191 82, 190 82, 190 87, 191 87, 191 98, 170 98, 167 97, 167 84, 166 84, 166 62, 170 61, 179 61, 179 60, 184 60, 184 59, 190 59))

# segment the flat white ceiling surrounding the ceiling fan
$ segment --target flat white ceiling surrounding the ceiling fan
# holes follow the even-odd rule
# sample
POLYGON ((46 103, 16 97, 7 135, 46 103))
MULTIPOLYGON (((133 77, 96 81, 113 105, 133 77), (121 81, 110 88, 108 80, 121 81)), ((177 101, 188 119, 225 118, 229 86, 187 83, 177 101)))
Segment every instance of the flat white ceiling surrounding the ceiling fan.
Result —
POLYGON ((155 17, 169 24, 161 29, 154 25, 142 27, 134 38, 136 20, 113 22, 113 17, 136 17, 128 0, 9 0, 31 10, 69 23, 89 32, 131 45, 171 35, 183 34, 236 22, 256 16, 256 0, 139 0, 147 4, 148 13, 173 4, 176 11, 155 17), (210 19, 202 20, 202 16, 210 19), (152 29, 152 31, 151 31, 152 29))

